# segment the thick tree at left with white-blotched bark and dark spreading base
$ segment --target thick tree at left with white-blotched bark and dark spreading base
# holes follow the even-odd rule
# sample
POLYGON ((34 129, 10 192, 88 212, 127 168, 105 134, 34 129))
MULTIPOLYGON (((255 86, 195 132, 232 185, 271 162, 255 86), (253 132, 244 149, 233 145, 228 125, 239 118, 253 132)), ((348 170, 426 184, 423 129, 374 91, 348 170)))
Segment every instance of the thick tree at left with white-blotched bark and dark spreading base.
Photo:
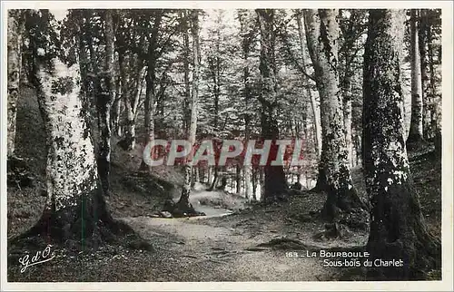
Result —
POLYGON ((29 46, 25 61, 30 64, 30 83, 44 121, 47 200, 35 226, 15 240, 35 236, 64 242, 82 239, 82 248, 96 248, 103 239, 133 229, 114 220, 106 209, 89 125, 89 102, 81 90, 81 66, 71 45, 78 41, 66 38, 69 34, 58 38, 55 28, 48 10, 26 12, 29 46))

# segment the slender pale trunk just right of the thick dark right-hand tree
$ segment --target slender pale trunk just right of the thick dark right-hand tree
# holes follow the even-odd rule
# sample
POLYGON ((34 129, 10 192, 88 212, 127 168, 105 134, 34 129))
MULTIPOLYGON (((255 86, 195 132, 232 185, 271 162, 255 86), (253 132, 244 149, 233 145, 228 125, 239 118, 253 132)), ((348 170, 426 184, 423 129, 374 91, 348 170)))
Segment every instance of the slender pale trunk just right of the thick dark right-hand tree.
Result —
POLYGON ((410 47, 411 47, 411 120, 410 132, 407 144, 423 141, 422 128, 422 79, 421 59, 418 41, 418 17, 417 10, 411 9, 410 17, 410 47))

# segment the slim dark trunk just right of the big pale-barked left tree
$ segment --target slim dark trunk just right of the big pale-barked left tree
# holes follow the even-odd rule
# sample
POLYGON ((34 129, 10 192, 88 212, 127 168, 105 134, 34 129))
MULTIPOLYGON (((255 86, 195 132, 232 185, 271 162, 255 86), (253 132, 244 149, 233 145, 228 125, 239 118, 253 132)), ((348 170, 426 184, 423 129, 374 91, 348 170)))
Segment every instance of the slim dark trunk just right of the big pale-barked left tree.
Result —
POLYGON ((99 74, 98 89, 96 90, 96 107, 98 110, 100 125, 100 141, 98 170, 101 182, 103 184, 104 194, 109 194, 109 173, 111 157, 111 108, 114 97, 114 20, 112 18, 113 10, 104 11, 105 21, 105 63, 104 72, 99 74))

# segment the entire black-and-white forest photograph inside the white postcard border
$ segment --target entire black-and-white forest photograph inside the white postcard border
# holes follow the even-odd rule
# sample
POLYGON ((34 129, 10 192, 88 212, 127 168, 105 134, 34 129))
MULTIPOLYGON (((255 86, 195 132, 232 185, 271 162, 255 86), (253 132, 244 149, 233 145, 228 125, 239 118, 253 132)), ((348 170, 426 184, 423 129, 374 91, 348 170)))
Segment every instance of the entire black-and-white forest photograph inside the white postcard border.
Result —
POLYGON ((441 280, 441 90, 441 9, 9 9, 7 280, 441 280))

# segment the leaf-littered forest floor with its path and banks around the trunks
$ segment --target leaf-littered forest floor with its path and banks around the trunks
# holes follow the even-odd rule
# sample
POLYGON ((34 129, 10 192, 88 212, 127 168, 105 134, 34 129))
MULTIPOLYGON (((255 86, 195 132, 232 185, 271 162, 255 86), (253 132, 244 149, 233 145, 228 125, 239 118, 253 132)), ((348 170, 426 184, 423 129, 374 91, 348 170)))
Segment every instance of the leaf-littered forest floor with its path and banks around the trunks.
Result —
MULTIPOLYGON (((18 110, 17 153, 35 173, 30 188, 8 185, 8 238, 25 232, 39 219, 44 207, 44 138, 37 107, 22 104, 18 110), (22 107, 21 107, 22 106, 22 107), (31 107, 31 108, 30 108, 31 107), (38 117, 38 118, 36 118, 38 117), (35 119, 35 120, 34 120, 35 119), (35 121, 35 127, 26 127, 35 121), (30 129, 34 129, 31 131, 30 129), (35 136, 34 136, 35 135, 35 136), (33 148, 26 148, 35 141, 33 148)), ((137 150, 137 151, 140 151, 137 150)), ((8 245, 8 281, 335 281, 363 280, 356 268, 326 268, 322 258, 287 257, 287 251, 320 249, 358 250, 368 238, 365 231, 350 231, 344 238, 321 236, 325 222, 314 214, 324 194, 304 190, 274 205, 249 204, 239 196, 205 190, 196 184, 191 202, 207 216, 155 218, 165 200, 180 194, 181 175, 173 169, 157 169, 144 176, 135 171, 136 153, 115 150, 111 173, 113 192, 106 198, 114 218, 127 222, 153 245, 105 244, 97 250, 53 246, 55 257, 29 267, 24 273, 18 259, 42 250, 35 246, 8 245), (134 170, 135 169, 135 170, 134 170)), ((410 167, 429 229, 440 237, 441 161, 429 153, 410 153, 410 167)), ((365 196, 360 168, 352 170, 353 182, 365 196)))

